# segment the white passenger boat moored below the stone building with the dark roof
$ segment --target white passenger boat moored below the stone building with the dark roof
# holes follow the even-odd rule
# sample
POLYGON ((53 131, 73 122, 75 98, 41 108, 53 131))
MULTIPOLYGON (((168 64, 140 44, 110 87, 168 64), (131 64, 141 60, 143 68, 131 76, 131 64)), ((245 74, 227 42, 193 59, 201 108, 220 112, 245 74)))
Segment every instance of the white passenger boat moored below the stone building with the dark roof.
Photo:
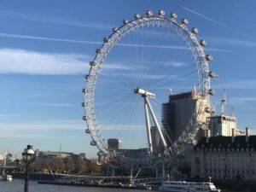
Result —
POLYGON ((171 192, 220 192, 211 182, 165 181, 160 191, 171 192))

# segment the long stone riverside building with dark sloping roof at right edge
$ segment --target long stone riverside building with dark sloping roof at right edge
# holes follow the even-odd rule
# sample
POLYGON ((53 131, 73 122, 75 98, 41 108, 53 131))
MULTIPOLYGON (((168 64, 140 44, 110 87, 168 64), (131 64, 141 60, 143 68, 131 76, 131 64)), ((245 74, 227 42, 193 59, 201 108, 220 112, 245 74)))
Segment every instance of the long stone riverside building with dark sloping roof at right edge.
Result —
POLYGON ((191 158, 191 177, 256 180, 256 136, 203 137, 191 158))

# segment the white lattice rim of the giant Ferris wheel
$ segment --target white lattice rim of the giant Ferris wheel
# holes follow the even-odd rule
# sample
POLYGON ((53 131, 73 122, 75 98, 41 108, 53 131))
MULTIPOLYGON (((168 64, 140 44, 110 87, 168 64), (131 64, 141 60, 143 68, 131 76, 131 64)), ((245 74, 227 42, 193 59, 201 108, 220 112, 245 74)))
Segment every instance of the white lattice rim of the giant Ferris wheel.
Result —
MULTIPOLYGON (((210 77, 209 69, 207 64, 206 55, 201 47, 201 44, 197 41, 195 34, 189 32, 186 25, 179 24, 175 19, 167 19, 163 16, 146 16, 139 19, 124 21, 124 25, 119 28, 114 28, 113 33, 104 39, 101 49, 98 49, 96 56, 92 62, 90 62, 90 72, 86 75, 86 84, 84 89, 84 119, 88 127, 88 133, 93 140, 92 144, 100 150, 101 156, 112 157, 115 156, 114 152, 108 149, 108 144, 102 138, 100 133, 100 128, 96 124, 96 108, 95 108, 95 93, 96 93, 96 82, 98 75, 101 71, 101 67, 104 61, 107 59, 108 54, 111 52, 115 45, 121 41, 121 39, 129 36, 131 32, 136 32, 140 29, 146 27, 163 27, 171 30, 171 32, 176 33, 178 38, 181 38, 188 46, 191 55, 195 61, 195 67, 197 72, 197 90, 201 92, 203 96, 207 96, 210 90, 210 77)), ((204 109, 202 109, 204 110, 204 109)), ((198 114, 195 114, 198 115, 198 114)), ((195 118, 195 117, 194 117, 195 118)), ((193 117, 191 117, 193 119, 193 117)), ((177 143, 174 143, 170 147, 170 150, 175 154, 175 150, 178 145, 183 144, 188 137, 191 135, 195 136, 196 130, 193 128, 193 121, 191 121, 191 129, 184 132, 181 137, 179 137, 177 143)))

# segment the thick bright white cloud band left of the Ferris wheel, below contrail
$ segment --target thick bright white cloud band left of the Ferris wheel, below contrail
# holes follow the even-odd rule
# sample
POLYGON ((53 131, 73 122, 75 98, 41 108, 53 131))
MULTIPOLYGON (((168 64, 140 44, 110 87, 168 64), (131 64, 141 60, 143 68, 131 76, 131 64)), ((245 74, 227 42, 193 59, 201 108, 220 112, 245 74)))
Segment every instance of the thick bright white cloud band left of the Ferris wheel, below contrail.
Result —
POLYGON ((23 49, 0 49, 0 61, 0 73, 82 74, 89 66, 86 55, 46 54, 23 49))

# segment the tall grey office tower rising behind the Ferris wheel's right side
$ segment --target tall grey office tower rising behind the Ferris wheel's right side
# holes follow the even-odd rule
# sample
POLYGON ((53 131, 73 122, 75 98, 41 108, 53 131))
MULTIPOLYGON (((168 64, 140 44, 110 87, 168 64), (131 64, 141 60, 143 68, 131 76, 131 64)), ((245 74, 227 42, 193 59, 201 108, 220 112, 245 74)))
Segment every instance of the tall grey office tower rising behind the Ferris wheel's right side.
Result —
POLYGON ((162 125, 175 142, 188 128, 193 115, 197 122, 206 124, 211 114, 205 109, 210 107, 209 97, 202 96, 195 89, 177 95, 170 94, 169 102, 162 104, 162 125))

